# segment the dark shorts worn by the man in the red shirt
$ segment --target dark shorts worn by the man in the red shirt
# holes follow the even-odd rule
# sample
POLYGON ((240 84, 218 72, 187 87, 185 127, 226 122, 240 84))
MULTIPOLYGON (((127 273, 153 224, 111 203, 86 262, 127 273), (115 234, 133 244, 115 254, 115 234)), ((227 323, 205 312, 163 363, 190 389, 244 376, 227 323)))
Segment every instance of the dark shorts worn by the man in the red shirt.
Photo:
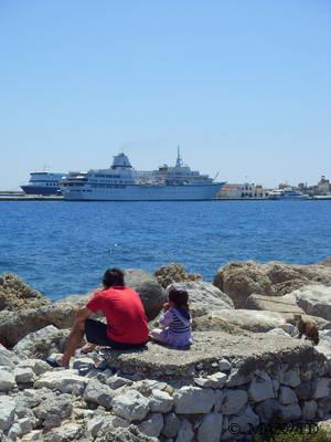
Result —
POLYGON ((141 344, 124 344, 116 343, 109 339, 107 336, 107 325, 95 319, 87 319, 85 323, 85 335, 86 340, 90 344, 97 344, 99 346, 113 347, 118 350, 126 350, 128 348, 141 348, 145 347, 146 343, 141 344))

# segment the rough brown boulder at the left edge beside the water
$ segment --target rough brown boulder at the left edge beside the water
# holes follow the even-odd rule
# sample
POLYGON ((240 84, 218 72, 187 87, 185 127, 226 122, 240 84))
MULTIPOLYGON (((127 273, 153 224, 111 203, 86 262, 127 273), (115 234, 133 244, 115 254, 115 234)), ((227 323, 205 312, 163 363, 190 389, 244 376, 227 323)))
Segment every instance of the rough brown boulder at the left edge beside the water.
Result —
POLYGON ((40 292, 12 273, 0 275, 0 311, 18 311, 49 305, 51 302, 40 292))

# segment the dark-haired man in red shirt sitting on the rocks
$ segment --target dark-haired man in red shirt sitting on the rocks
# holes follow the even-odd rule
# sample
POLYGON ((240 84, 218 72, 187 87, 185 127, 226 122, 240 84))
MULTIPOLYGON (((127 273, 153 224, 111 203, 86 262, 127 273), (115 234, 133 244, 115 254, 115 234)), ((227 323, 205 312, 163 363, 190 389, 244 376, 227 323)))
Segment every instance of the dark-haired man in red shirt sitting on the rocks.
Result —
MULTIPOLYGON (((76 312, 76 320, 68 337, 65 352, 60 360, 49 358, 52 367, 68 367, 72 356, 79 347, 84 334, 88 351, 96 345, 115 349, 143 347, 148 341, 148 323, 139 295, 125 286, 124 272, 108 269, 103 277, 104 290, 95 293, 85 307, 76 312), (93 313, 102 312, 107 325, 89 319, 93 313)), ((87 352, 86 351, 86 352, 87 352)))

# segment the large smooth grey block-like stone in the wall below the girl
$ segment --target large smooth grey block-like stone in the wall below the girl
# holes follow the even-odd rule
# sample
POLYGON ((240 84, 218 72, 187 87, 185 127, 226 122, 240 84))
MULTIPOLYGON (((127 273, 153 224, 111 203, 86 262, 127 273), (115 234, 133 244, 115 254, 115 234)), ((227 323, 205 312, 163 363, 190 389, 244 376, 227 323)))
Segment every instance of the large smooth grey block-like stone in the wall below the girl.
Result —
POLYGON ((209 413, 214 406, 213 390, 182 387, 174 394, 175 412, 179 414, 209 413))

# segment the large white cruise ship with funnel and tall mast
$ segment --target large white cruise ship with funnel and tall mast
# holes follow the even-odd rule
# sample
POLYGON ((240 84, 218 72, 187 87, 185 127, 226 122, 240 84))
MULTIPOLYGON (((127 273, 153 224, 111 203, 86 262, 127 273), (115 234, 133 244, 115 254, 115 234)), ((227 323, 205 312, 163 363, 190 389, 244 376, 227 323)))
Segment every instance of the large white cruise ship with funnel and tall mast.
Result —
POLYGON ((64 199, 72 201, 197 201, 214 199, 224 185, 184 166, 178 149, 173 167, 138 171, 118 154, 109 169, 70 172, 60 187, 64 199))

